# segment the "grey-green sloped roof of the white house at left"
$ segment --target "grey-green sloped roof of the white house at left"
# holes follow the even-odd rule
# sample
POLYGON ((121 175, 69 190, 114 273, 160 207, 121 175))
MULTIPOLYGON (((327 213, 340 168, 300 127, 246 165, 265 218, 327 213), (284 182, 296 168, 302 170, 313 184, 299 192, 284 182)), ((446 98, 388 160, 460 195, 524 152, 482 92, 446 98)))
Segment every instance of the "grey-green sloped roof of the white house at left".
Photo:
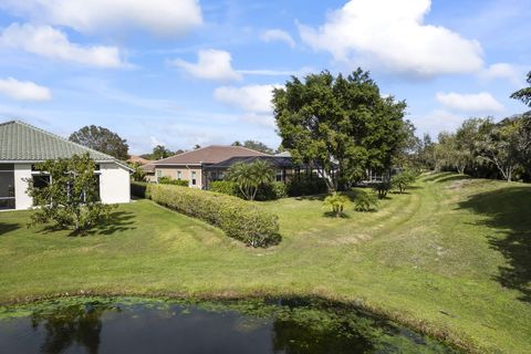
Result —
POLYGON ((119 162, 113 156, 69 142, 20 121, 0 124, 0 162, 43 162, 88 153, 95 162, 119 162))

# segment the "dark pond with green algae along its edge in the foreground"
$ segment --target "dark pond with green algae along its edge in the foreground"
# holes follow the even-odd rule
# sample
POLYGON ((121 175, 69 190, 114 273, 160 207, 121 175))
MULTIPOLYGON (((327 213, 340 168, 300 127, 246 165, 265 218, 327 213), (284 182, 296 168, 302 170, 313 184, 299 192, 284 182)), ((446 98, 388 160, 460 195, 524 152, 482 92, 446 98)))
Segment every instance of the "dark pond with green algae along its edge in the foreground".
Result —
POLYGON ((0 308, 0 353, 455 353, 360 310, 306 300, 70 298, 0 308))

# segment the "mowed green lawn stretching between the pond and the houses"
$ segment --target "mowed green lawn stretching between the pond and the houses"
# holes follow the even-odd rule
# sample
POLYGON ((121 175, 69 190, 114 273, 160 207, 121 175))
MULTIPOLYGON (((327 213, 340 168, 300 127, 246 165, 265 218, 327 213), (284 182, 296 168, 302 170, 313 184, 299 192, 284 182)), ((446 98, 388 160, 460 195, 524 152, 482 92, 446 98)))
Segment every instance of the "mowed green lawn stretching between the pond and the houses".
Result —
POLYGON ((423 176, 377 212, 262 202, 282 242, 250 249, 148 200, 86 237, 0 212, 0 302, 92 293, 303 295, 355 302, 469 351, 531 352, 531 186, 423 176))

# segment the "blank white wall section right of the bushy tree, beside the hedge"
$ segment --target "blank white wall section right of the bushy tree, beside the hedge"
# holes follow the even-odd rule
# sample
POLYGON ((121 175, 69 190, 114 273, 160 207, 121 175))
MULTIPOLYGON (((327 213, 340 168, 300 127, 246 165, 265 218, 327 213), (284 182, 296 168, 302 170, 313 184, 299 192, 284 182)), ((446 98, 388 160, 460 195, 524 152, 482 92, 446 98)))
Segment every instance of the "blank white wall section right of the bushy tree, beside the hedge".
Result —
POLYGON ((102 202, 129 202, 129 171, 116 164, 100 164, 100 198, 102 202))

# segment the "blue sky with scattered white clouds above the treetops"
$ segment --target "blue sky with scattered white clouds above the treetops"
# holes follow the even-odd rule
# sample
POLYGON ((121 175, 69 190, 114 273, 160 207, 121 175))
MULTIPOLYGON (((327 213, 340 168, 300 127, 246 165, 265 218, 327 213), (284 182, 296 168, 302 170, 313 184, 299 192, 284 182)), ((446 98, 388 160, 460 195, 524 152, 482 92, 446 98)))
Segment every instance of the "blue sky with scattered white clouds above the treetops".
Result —
POLYGON ((372 72, 419 133, 525 107, 529 0, 1 0, 0 121, 63 136, 88 124, 131 153, 258 139, 271 87, 372 72))

